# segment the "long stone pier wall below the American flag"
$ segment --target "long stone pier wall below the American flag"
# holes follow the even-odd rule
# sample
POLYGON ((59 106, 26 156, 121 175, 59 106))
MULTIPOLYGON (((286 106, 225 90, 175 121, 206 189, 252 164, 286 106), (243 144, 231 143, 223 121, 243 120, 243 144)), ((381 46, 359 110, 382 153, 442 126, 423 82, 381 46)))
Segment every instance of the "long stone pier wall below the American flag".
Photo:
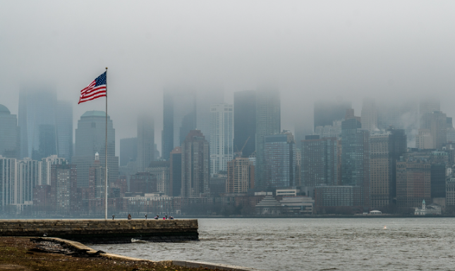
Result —
POLYGON ((0 220, 0 237, 56 237, 88 244, 199 240, 198 220, 0 220))

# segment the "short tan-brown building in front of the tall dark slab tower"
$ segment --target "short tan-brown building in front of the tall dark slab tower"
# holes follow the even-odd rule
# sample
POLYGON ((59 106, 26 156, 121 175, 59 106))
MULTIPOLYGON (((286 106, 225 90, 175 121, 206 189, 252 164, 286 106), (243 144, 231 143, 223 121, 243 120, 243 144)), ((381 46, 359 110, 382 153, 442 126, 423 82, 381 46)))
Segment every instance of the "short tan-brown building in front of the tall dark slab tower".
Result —
POLYGON ((229 161, 227 163, 226 193, 246 193, 254 179, 252 173, 254 173, 254 169, 250 159, 236 157, 229 161))

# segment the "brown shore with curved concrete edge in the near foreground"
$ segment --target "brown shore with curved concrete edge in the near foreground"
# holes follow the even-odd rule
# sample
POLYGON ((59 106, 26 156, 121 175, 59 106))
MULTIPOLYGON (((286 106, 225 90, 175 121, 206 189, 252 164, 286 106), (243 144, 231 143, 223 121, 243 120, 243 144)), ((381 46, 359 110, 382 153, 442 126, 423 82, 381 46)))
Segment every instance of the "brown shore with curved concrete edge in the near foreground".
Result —
POLYGON ((58 238, 0 237, 0 270, 253 271, 255 269, 172 260, 154 262, 95 251, 78 242, 58 238))

